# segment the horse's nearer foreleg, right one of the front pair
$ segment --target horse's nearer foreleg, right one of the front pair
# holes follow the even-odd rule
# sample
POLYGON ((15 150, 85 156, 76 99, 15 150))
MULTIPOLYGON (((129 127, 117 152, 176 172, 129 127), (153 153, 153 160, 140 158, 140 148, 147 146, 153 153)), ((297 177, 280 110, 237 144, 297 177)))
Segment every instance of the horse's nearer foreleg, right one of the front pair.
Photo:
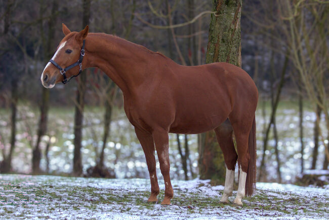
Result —
POLYGON ((170 205, 170 200, 173 198, 174 191, 170 181, 170 163, 169 163, 169 137, 168 131, 154 130, 152 133, 153 140, 157 156, 160 163, 160 170, 165 180, 165 199, 161 202, 161 205, 170 205))

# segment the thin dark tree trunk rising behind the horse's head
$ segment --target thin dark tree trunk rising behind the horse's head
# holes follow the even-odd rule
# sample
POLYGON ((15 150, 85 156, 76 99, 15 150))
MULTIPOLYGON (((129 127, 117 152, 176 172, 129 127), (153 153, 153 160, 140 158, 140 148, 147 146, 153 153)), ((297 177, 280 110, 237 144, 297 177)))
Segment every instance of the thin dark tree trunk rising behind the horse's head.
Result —
MULTIPOLYGON (((89 24, 90 18, 90 5, 91 0, 83 1, 83 28, 89 24)), ((85 107, 85 93, 87 75, 84 71, 78 78, 78 88, 76 95, 75 105, 75 117, 74 117, 74 152, 73 152, 73 175, 80 176, 82 174, 82 162, 81 162, 81 140, 82 140, 82 128, 84 121, 84 107, 85 107)))

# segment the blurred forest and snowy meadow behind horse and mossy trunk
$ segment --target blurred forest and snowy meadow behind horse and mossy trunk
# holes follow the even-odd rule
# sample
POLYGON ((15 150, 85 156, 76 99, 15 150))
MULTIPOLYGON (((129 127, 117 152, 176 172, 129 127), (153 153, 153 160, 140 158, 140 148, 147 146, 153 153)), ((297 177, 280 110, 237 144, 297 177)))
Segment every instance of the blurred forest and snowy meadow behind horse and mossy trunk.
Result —
MULTIPOLYGON (((260 94, 258 181, 296 182, 308 170, 327 170, 329 2, 239 2, 241 66, 260 94)), ((148 178, 122 93, 101 70, 89 68, 52 90, 40 75, 63 38, 61 23, 72 31, 89 24, 90 32, 120 36, 182 65, 204 64, 210 21, 220 16, 214 11, 213 1, 201 0, 1 0, 0 172, 148 178)), ((199 175, 201 139, 171 134, 172 178, 199 175)))

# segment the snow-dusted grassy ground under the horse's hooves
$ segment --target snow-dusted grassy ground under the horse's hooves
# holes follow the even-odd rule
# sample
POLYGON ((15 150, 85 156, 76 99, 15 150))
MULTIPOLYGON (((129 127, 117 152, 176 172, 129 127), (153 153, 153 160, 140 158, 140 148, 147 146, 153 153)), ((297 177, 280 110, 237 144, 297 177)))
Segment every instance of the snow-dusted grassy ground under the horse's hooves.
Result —
POLYGON ((329 186, 257 183, 256 194, 243 199, 243 207, 234 207, 219 203, 223 186, 212 187, 209 180, 172 184, 172 205, 161 206, 163 184, 159 203, 146 202, 149 179, 0 175, 0 218, 329 218, 329 186))

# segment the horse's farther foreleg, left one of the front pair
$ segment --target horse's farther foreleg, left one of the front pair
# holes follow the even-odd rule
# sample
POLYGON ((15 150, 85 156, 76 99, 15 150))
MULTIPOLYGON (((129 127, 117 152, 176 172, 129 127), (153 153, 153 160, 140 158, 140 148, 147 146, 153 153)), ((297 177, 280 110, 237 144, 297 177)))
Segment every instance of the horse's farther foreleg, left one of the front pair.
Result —
POLYGON ((135 132, 136 132, 139 142, 142 145, 142 148, 143 148, 143 151, 145 154, 145 158, 146 158, 148 172, 150 174, 151 195, 147 201, 156 202, 157 201, 156 197, 159 194, 159 185, 158 185, 157 177, 156 177, 154 141, 153 141, 152 135, 145 131, 142 131, 135 127, 135 132))

